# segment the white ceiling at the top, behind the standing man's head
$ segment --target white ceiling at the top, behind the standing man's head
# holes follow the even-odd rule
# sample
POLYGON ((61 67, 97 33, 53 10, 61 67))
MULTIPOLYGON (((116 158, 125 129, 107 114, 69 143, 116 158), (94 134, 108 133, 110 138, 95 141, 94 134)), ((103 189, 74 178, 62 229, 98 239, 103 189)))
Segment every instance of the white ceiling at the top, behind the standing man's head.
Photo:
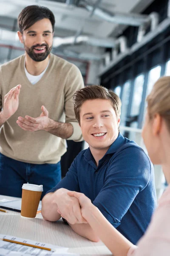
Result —
MULTIPOLYGON (((95 4, 96 0, 90 0, 91 4, 95 4)), ((98 7, 107 9, 110 12, 141 12, 153 0, 102 0, 98 7), (139 6, 139 8, 136 8, 139 6)), ((109 23, 80 7, 67 5, 65 3, 57 3, 50 0, 0 0, 0 16, 6 16, 17 19, 21 10, 32 4, 46 6, 55 15, 56 19, 56 35, 69 36, 82 29, 83 34, 93 35, 96 37, 108 37, 117 29, 117 24, 109 23), (58 29, 58 33, 57 33, 58 29)))

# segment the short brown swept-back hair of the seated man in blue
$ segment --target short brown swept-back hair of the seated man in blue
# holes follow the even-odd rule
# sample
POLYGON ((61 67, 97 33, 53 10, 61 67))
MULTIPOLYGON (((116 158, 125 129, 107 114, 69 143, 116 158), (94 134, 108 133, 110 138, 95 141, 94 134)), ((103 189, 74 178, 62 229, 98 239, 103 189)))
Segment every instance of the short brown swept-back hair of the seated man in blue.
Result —
POLYGON ((121 100, 116 93, 112 90, 108 90, 107 88, 101 85, 89 85, 85 88, 82 88, 74 93, 73 102, 74 102, 74 113, 76 119, 80 125, 80 108, 82 104, 88 99, 108 99, 111 101, 113 109, 116 113, 117 119, 119 119, 120 111, 121 111, 121 100))

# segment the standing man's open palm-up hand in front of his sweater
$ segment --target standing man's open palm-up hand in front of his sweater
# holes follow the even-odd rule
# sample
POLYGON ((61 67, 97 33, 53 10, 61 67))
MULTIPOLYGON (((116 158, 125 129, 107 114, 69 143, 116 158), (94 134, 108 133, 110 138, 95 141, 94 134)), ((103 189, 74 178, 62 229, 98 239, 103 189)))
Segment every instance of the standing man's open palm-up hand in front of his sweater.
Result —
POLYGON ((17 124, 25 131, 40 131, 45 130, 49 125, 48 111, 42 106, 42 113, 40 116, 33 118, 31 116, 25 116, 25 118, 19 116, 17 124))

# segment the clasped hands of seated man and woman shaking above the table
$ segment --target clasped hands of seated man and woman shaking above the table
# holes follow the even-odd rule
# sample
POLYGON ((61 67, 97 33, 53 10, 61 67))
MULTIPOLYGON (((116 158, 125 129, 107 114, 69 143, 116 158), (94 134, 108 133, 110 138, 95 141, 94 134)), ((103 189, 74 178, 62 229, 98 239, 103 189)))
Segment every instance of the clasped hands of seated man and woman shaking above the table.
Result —
POLYGON ((86 218, 93 207, 91 200, 84 194, 61 188, 52 194, 45 195, 42 199, 41 212, 45 220, 56 221, 62 217, 69 224, 82 224, 87 223, 86 218), (48 202, 51 202, 50 212, 47 198, 48 202))

